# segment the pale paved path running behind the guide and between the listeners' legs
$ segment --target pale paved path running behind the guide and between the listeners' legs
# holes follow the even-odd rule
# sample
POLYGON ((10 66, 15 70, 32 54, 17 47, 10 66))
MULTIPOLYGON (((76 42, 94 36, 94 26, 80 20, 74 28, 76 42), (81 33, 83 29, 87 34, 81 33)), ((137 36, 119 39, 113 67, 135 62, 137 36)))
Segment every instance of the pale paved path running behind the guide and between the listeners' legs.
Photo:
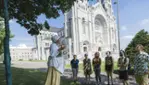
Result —
MULTIPOLYGON (((18 62, 12 62, 13 67, 17 68, 29 68, 29 69, 39 69, 40 71, 46 72, 47 71, 47 64, 46 62, 28 62, 28 61, 18 61, 18 62)), ((79 82, 83 85, 85 82, 84 75, 79 72, 79 82)), ((65 73, 62 76, 64 79, 72 80, 72 73, 70 69, 65 70, 65 73)), ((114 74, 114 85, 122 85, 122 83, 118 79, 118 75, 114 74)), ((107 77, 105 73, 101 73, 101 78, 102 78, 102 85, 107 84, 107 77)), ((91 81, 92 83, 90 85, 95 85, 95 78, 94 74, 91 75, 91 81)), ((129 82, 130 85, 137 85, 135 83, 135 80, 132 76, 129 76, 129 82)), ((85 84, 84 84, 85 85, 85 84)))

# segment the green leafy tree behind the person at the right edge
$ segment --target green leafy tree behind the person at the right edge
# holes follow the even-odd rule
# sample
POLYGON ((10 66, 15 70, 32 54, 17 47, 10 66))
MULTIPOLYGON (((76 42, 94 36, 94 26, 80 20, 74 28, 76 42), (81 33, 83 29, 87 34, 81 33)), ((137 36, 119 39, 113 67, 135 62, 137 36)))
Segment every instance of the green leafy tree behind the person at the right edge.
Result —
POLYGON ((138 53, 136 51, 136 45, 142 44, 145 47, 145 51, 149 53, 149 34, 147 31, 140 30, 132 41, 129 43, 127 48, 125 49, 126 54, 130 57, 130 61, 133 64, 133 59, 135 55, 138 53))

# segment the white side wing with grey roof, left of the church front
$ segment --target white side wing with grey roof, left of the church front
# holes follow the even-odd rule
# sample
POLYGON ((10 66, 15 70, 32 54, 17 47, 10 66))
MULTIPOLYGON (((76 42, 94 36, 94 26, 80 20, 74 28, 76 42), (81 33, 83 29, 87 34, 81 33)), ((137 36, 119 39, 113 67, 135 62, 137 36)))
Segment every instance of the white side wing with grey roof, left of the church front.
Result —
POLYGON ((52 43, 51 36, 59 35, 64 37, 64 29, 63 28, 55 28, 51 27, 49 30, 43 29, 40 31, 40 34, 35 36, 35 44, 36 48, 33 49, 34 56, 37 60, 47 60, 49 57, 49 47, 52 43))

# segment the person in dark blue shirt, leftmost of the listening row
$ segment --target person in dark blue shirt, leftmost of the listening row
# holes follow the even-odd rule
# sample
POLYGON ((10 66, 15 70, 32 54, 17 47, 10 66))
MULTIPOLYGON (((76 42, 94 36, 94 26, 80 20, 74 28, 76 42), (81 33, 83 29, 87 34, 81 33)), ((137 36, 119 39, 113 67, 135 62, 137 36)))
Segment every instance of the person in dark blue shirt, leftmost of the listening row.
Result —
POLYGON ((76 82, 78 77, 78 68, 79 68, 79 60, 77 59, 77 55, 73 56, 73 59, 71 60, 71 68, 73 73, 73 80, 76 82))

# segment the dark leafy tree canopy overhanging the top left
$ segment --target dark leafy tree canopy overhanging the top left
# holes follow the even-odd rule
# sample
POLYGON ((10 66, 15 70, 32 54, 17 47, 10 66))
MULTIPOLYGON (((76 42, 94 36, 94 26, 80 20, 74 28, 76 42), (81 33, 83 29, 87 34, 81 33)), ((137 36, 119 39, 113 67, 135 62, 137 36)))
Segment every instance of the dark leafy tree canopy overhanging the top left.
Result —
MULTIPOLYGON (((0 1, 2 8, 3 0, 0 1)), ((8 11, 10 19, 16 19, 17 23, 25 27, 31 35, 39 34, 42 24, 37 22, 39 15, 46 18, 57 18, 60 11, 68 11, 76 0, 9 0, 8 11)), ((0 16, 4 17, 3 9, 0 8, 0 16)), ((47 24, 47 23, 46 23, 47 24)))

